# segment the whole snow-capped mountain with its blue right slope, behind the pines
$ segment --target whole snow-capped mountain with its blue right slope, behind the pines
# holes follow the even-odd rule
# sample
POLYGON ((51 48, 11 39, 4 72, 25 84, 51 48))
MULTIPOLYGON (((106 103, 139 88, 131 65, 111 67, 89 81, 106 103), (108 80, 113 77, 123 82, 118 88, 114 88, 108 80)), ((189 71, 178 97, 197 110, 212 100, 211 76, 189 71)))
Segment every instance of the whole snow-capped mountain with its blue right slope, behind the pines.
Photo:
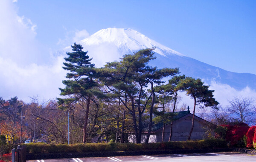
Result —
MULTIPOLYGON (((84 47, 84 50, 88 50, 88 55, 93 58, 92 62, 96 64, 96 67, 102 67, 108 61, 117 61, 125 54, 156 47, 154 50, 156 59, 150 62, 152 66, 179 67, 181 74, 201 78, 206 84, 214 81, 227 84, 237 90, 245 87, 256 89, 256 75, 254 74, 234 73, 195 60, 132 29, 102 29, 78 43, 84 47)), ((71 47, 66 47, 65 50, 70 51, 71 47)))

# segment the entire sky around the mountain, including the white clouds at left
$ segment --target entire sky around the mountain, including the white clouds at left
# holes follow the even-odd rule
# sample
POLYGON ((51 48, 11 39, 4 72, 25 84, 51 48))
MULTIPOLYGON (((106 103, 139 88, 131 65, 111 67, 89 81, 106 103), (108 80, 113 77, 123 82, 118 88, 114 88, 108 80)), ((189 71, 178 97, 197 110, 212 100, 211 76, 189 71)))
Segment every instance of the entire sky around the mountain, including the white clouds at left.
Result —
POLYGON ((256 0, 0 0, 0 97, 58 97, 63 48, 110 27, 132 28, 224 70, 256 74, 255 17, 256 0))

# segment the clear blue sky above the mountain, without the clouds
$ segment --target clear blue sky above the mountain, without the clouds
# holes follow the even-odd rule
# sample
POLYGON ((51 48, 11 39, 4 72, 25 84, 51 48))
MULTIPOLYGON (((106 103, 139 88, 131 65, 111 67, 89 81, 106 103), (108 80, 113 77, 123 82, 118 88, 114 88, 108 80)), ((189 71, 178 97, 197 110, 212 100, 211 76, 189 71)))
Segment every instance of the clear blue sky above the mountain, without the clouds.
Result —
POLYGON ((19 0, 15 6, 51 49, 72 31, 132 28, 199 61, 256 74, 255 0, 19 0))

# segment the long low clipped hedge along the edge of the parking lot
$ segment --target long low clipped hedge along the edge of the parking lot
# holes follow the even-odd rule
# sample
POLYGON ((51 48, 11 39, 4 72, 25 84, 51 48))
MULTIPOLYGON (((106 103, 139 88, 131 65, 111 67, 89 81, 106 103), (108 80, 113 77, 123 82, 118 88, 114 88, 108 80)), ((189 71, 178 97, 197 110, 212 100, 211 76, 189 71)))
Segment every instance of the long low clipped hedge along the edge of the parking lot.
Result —
POLYGON ((27 153, 79 153, 98 151, 153 151, 153 150, 175 150, 175 149, 208 149, 226 148, 223 139, 207 139, 198 141, 180 141, 163 143, 86 143, 86 144, 44 144, 29 143, 26 145, 27 153))

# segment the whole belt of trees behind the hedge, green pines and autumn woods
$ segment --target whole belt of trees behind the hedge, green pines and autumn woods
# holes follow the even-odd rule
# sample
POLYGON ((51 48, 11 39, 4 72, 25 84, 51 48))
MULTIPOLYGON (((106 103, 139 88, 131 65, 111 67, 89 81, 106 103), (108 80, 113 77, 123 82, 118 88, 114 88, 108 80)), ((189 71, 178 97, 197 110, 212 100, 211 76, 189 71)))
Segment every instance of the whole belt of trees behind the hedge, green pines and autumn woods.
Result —
MULTIPOLYGON (((214 90, 209 90, 201 79, 179 75, 178 68, 158 69, 150 66, 148 63, 155 59, 154 48, 127 54, 120 61, 108 62, 104 67, 96 68, 81 45, 74 43, 71 47, 73 52, 68 52, 68 57, 64 58, 67 80, 63 84, 66 87, 59 88, 63 98, 47 102, 32 98, 31 103, 23 103, 17 97, 7 101, 0 98, 0 134, 6 135, 8 142, 28 138, 32 141, 34 137, 46 139, 47 142, 65 143, 69 112, 70 143, 90 142, 95 137, 96 142, 103 139, 123 143, 128 142, 130 132, 140 143, 143 120, 149 118, 152 123, 152 116, 156 115, 155 120, 163 122, 164 128, 165 123, 172 126, 172 113, 165 112, 178 111, 179 92, 186 92, 194 101, 188 140, 193 131, 197 106, 201 106, 199 115, 204 115, 205 107, 210 107, 212 112, 208 113, 211 115, 209 119, 216 124, 231 121, 231 117, 223 116, 224 109, 213 98, 214 90), (165 84, 163 80, 166 77, 170 79, 165 84)), ((236 107, 231 103, 226 114, 232 111, 232 106, 236 107)), ((233 115, 232 120, 239 119, 239 116, 242 122, 246 122, 249 116, 255 115, 252 103, 249 102, 250 113, 233 115)), ((169 140, 172 140, 172 133, 169 140)))

